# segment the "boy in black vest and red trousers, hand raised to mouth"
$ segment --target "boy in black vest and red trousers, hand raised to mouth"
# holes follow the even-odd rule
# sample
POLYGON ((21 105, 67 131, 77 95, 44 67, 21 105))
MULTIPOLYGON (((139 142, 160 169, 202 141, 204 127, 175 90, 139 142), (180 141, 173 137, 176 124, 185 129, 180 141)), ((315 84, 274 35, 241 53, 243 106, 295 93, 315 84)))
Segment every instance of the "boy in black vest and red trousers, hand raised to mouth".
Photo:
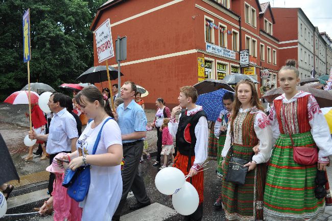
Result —
POLYGON ((181 87, 178 100, 180 105, 173 108, 169 123, 170 133, 176 138, 178 149, 174 167, 190 176, 189 182, 193 184, 199 195, 197 210, 185 216, 184 220, 202 220, 204 175, 199 170, 207 158, 207 119, 202 106, 195 104, 197 100, 195 87, 181 87), (185 108, 185 111, 180 114, 179 122, 176 122, 175 115, 182 108, 185 108))

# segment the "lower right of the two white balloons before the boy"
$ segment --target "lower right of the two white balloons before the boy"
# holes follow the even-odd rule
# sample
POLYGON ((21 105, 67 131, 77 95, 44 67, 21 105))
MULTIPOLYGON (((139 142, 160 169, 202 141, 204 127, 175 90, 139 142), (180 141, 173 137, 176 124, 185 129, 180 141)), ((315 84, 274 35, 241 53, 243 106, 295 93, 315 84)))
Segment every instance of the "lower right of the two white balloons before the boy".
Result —
POLYGON ((172 196, 174 209, 181 215, 193 214, 199 204, 199 196, 195 187, 188 182, 172 196))

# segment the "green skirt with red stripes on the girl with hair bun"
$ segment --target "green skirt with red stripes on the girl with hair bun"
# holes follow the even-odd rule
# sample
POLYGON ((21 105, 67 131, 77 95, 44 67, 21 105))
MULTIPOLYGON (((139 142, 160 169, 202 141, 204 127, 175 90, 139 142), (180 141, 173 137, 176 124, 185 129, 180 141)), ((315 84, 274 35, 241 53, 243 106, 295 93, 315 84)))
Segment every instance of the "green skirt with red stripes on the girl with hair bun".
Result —
MULTIPOLYGON (((292 135, 295 146, 317 148, 311 132, 292 135)), ((294 162, 289 135, 280 134, 269 163, 265 193, 265 220, 316 220, 324 214, 325 200, 315 197, 317 164, 294 162)))

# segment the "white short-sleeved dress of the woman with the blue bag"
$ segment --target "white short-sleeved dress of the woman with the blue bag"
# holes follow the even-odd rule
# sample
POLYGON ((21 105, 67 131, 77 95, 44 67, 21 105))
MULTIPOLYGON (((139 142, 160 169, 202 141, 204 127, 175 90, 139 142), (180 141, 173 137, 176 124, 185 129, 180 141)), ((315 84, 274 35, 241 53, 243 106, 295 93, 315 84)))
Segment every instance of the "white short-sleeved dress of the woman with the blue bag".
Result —
MULTIPOLYGON (((106 120, 106 119, 105 119, 106 120)), ((104 121, 105 121, 104 120, 104 121)), ((98 133, 104 124, 91 128, 91 121, 77 141, 76 147, 82 148, 83 154, 92 154, 98 133)), ((107 153, 109 146, 121 144, 121 130, 114 120, 109 120, 103 131, 95 154, 107 153)), ((89 192, 79 206, 83 208, 82 221, 111 220, 122 195, 121 165, 91 165, 89 192)))

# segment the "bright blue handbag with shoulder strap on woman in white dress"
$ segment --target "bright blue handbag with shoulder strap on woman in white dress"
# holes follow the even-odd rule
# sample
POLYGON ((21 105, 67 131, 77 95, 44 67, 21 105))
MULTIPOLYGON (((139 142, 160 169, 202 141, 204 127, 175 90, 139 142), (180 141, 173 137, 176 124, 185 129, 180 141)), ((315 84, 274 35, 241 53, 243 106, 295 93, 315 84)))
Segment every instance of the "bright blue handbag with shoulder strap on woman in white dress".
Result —
MULTIPOLYGON (((97 146, 100 141, 100 137, 102 134, 103 127, 107 121, 113 118, 108 118, 105 120, 104 124, 102 125, 102 128, 100 128, 100 131, 98 133, 96 142, 93 146, 92 154, 96 153, 97 146)), ((90 186, 90 168, 91 166, 89 164, 85 166, 81 166, 75 171, 67 168, 64 173, 64 179, 62 182, 62 186, 67 187, 67 194, 73 198, 76 202, 82 202, 86 196, 86 194, 89 191, 90 186)))

